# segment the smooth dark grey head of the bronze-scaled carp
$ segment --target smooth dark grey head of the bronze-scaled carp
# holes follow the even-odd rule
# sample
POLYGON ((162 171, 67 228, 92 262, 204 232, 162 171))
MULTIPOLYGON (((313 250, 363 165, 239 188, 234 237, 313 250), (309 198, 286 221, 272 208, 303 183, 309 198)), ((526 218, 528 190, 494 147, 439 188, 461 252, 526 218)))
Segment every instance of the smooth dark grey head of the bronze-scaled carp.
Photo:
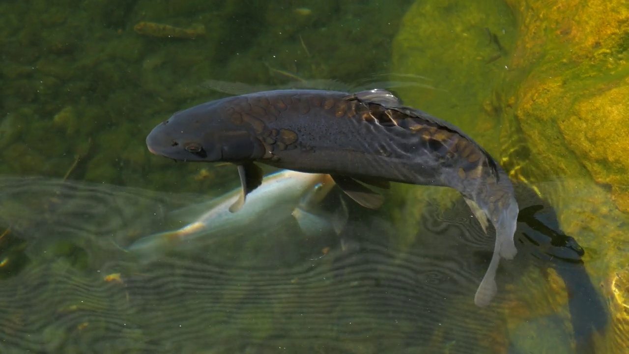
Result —
POLYGON ((235 123, 222 101, 178 111, 157 125, 147 136, 148 151, 180 161, 242 163, 264 156, 255 132, 235 123))

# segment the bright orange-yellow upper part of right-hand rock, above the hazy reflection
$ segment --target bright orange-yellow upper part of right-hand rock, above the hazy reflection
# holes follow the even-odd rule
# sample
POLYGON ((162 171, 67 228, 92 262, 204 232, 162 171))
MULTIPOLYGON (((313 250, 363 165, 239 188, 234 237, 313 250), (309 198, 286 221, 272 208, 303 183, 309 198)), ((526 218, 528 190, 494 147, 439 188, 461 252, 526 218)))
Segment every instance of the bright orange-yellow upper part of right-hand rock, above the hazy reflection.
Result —
POLYGON ((536 164, 551 176, 591 174, 629 211, 629 5, 509 1, 520 40, 503 87, 536 164), (545 14, 538 16, 539 11, 545 14))

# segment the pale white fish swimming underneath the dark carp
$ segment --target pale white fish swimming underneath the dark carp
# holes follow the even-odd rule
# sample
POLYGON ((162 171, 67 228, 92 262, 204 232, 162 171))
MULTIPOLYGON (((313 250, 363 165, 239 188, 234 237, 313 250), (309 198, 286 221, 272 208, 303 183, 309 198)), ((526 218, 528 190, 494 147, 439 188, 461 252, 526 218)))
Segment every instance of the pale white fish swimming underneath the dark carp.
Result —
MULTIPOLYGON (((240 195, 240 190, 233 190, 214 201, 211 208, 193 222, 175 231, 142 237, 132 243, 128 251, 153 258, 172 248, 198 248, 204 242, 220 237, 277 227, 291 214, 302 227, 305 224, 300 218, 322 222, 318 220, 318 215, 302 209, 321 202, 333 186, 334 182, 327 174, 296 171, 270 174, 259 188, 250 193, 247 203, 238 213, 230 212, 230 206, 240 195)), ((343 222, 342 217, 338 220, 343 222)), ((305 229, 304 232, 311 234, 315 231, 305 229)))

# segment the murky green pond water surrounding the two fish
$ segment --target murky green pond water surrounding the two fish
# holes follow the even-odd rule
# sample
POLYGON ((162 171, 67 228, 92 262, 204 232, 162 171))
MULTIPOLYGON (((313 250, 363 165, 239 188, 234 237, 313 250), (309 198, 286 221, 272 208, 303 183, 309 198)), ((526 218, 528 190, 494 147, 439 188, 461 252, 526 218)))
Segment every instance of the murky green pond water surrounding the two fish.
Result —
POLYGON ((528 166, 505 108, 508 78, 526 76, 508 67, 518 16, 502 1, 413 3, 1 2, 0 352, 598 353, 617 331, 608 348, 622 353, 623 287, 608 275, 626 268, 596 240, 626 215, 587 176, 528 166), (370 85, 455 122, 548 197, 518 184, 543 215, 518 224, 490 307, 472 299, 493 239, 436 188, 395 186, 379 212, 349 205, 340 236, 288 217, 151 259, 125 250, 238 185, 229 166, 148 153, 174 111, 370 85), (582 221, 592 203, 604 230, 582 221), (562 229, 584 263, 555 259, 562 229))

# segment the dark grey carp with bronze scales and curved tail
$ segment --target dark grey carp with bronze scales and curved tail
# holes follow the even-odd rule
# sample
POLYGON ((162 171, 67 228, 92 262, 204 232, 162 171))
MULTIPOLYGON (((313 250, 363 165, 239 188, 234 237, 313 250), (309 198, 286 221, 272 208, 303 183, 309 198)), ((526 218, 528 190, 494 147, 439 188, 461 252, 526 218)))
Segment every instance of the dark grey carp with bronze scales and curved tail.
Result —
POLYGON ((177 160, 238 164, 243 193, 232 211, 260 183, 254 162, 330 174, 348 196, 370 208, 382 198, 363 183, 454 188, 481 223, 489 219, 496 229, 477 305, 489 304, 496 294, 499 257, 516 254, 518 205, 503 169, 459 128, 404 106, 386 90, 275 90, 210 101, 155 127, 147 146, 177 160))

